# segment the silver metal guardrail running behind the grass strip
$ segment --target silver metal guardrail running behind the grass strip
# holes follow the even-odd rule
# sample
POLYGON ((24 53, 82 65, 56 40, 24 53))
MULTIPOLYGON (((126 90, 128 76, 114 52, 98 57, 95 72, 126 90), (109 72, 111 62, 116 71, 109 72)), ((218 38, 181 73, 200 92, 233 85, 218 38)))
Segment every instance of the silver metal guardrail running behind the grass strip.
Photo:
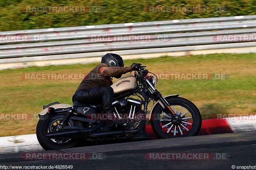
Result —
POLYGON ((230 34, 256 35, 256 15, 0 32, 0 44, 8 44, 0 45, 0 58, 230 43, 214 40, 217 35, 230 34), (1 41, 1 37, 17 35, 25 36, 26 40, 1 41), (92 38, 131 35, 149 38, 139 41, 92 38))

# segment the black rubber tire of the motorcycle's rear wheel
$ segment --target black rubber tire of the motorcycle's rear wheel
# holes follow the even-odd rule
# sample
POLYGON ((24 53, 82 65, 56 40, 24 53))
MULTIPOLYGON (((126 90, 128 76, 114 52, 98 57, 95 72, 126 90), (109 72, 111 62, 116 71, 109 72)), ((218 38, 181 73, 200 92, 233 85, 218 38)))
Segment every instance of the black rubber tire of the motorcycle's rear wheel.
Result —
MULTIPOLYGON (((55 143, 51 139, 48 139, 44 133, 47 132, 48 126, 52 120, 54 120, 55 116, 59 115, 50 115, 48 119, 42 120, 40 119, 36 126, 36 137, 39 142, 39 144, 44 148, 44 150, 60 150, 60 149, 67 149, 67 148, 73 148, 80 144, 81 140, 77 139, 70 139, 66 143, 55 143), (53 119, 52 119, 53 118, 53 119)), ((64 115, 63 115, 64 116, 64 115)), ((69 121, 71 126, 74 126, 74 122, 71 120, 69 121)))

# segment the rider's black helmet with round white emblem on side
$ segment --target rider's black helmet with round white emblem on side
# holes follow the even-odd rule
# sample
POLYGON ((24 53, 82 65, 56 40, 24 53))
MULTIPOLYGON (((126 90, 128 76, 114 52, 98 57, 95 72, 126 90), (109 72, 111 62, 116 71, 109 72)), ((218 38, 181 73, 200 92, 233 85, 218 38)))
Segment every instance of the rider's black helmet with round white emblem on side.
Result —
POLYGON ((124 67, 123 58, 113 53, 107 53, 101 57, 101 63, 106 63, 108 67, 124 67))

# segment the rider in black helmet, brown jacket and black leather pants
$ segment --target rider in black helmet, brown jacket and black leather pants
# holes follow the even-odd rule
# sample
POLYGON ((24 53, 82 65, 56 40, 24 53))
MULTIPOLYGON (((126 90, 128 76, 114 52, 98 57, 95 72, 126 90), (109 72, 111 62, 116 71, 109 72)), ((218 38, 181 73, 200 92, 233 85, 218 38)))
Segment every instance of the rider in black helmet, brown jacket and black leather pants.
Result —
MULTIPOLYGON (((114 113, 112 108, 114 91, 110 85, 113 84, 112 77, 121 78, 122 74, 138 70, 141 64, 132 63, 124 67, 123 58, 120 55, 107 53, 101 58, 101 63, 87 74, 78 86, 72 97, 75 101, 93 103, 102 100, 103 111, 108 117, 114 113)), ((125 120, 108 120, 107 126, 112 127, 126 123, 125 120)))

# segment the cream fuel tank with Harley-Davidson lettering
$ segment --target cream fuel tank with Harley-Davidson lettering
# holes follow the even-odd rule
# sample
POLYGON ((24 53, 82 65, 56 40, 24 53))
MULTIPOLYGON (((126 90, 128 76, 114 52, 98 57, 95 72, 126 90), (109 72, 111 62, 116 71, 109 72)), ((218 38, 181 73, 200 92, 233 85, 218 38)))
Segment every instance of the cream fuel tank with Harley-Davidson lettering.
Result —
POLYGON ((117 80, 111 87, 114 90, 114 94, 134 90, 136 88, 136 78, 132 75, 125 76, 117 80))

